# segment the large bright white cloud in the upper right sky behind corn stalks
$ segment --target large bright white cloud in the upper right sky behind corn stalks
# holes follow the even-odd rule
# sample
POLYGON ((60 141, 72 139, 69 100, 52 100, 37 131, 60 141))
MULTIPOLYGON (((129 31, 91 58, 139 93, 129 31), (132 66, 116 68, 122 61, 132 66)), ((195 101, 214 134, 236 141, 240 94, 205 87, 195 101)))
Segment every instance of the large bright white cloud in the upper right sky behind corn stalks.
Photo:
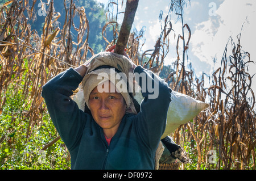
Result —
MULTIPOLYGON (((232 36, 237 43, 237 35, 241 32, 242 50, 250 53, 251 60, 256 62, 255 29, 256 29, 255 1, 225 0, 218 7, 217 16, 209 16, 205 22, 199 23, 191 38, 191 52, 200 61, 207 62, 213 70, 212 58, 216 56, 219 64, 228 39, 232 36), (242 28, 243 26, 243 28, 242 28), (241 30, 242 28, 242 30, 241 30)), ((217 65, 218 66, 218 65, 217 65)), ((249 73, 256 73, 256 66, 251 64, 249 73)), ((210 72, 212 73, 212 72, 210 72)), ((256 92, 256 77, 253 79, 253 90, 256 92)))

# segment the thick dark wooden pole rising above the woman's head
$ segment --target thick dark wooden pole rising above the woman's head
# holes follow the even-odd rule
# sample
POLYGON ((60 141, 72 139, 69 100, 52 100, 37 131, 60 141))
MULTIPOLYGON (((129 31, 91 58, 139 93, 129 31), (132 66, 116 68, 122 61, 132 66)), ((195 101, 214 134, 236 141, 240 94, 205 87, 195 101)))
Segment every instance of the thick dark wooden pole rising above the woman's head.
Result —
POLYGON ((135 12, 138 7, 139 0, 127 0, 125 7, 125 16, 123 17, 122 26, 119 32, 114 53, 123 54, 125 46, 129 39, 131 27, 133 26, 135 12))

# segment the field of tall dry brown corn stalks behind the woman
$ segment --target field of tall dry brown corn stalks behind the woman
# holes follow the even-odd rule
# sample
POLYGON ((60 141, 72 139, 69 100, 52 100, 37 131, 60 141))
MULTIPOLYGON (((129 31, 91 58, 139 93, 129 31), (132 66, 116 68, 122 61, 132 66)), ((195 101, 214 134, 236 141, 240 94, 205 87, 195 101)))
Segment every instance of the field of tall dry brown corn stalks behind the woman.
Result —
MULTIPOLYGON (((46 127, 45 121, 50 124, 51 119, 46 116, 47 108, 41 96, 42 86, 61 71, 83 64, 89 59, 89 53, 94 54, 88 44, 91 30, 84 7, 76 6, 72 0, 64 0, 62 2, 65 9, 60 14, 55 11, 53 1, 49 1, 42 35, 39 35, 28 23, 36 16, 34 10, 36 1, 32 2, 32 6, 28 0, 8 1, 0 6, 1 151, 7 148, 15 150, 20 142, 18 139, 23 140, 20 144, 27 144, 31 141, 31 137, 36 136, 40 129, 46 127), (57 23, 60 16, 65 16, 65 23, 62 26, 57 23), (80 19, 79 27, 73 23, 74 17, 80 19), (78 35, 76 40, 72 38, 72 28, 78 35), (13 92, 7 94, 10 89, 13 92), (20 104, 20 109, 7 113, 7 102, 18 93, 21 95, 19 100, 22 100, 17 103, 20 104), (3 127, 5 125, 3 115, 10 117, 9 126, 3 127), (23 137, 20 138, 19 134, 23 134, 23 137)), ((113 6, 117 4, 110 3, 113 6)), ((189 48, 190 37, 193 36, 189 25, 183 22, 185 3, 185 1, 170 1, 168 15, 160 16, 162 31, 154 48, 142 52, 144 30, 131 32, 126 46, 127 54, 135 64, 159 74, 163 70, 166 55, 170 50, 170 42, 175 41, 177 46, 174 56, 177 59, 172 64, 174 71, 170 71, 166 82, 170 82, 169 86, 172 90, 210 104, 208 110, 199 113, 193 120, 180 125, 174 133, 170 133, 195 163, 194 167, 182 165, 180 169, 255 169, 255 96, 251 90, 252 75, 246 71, 253 61, 250 60, 249 52, 242 50, 240 34, 236 39, 230 37, 224 49, 221 65, 212 75, 202 74, 201 77, 196 77, 191 66, 185 66, 185 54, 189 48), (183 34, 176 35, 176 39, 170 36, 170 33, 174 32, 171 12, 179 14, 182 21, 183 34), (183 48, 180 48, 180 44, 183 48), (230 52, 229 49, 232 51, 230 52), (212 153, 216 156, 214 163, 209 162, 212 153)), ((108 22, 102 29, 106 48, 117 41, 119 32, 117 14, 111 10, 106 14, 108 22), (113 29, 112 40, 106 38, 107 27, 113 29)), ((55 132, 55 136, 51 136, 48 142, 39 142, 41 148, 38 150, 50 149, 59 140, 56 130, 48 132, 55 132)), ((63 159, 68 162, 70 159, 68 151, 63 144, 61 147, 63 159)), ((36 153, 32 151, 31 154, 32 157, 23 154, 22 161, 27 157, 31 160, 27 164, 31 164, 36 153)), ((11 159, 10 154, 2 156, 1 167, 6 165, 9 159, 11 159)))

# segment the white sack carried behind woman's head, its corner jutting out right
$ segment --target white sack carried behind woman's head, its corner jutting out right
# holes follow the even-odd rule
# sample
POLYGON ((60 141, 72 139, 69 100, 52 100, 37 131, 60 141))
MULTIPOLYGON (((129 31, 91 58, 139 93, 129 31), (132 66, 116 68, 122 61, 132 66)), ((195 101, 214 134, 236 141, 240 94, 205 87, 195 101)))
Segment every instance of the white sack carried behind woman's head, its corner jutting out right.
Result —
MULTIPOLYGON (((136 93, 134 98, 138 103, 141 103, 143 100, 141 92, 136 93)), ((167 113, 166 130, 164 131, 161 139, 168 136, 168 134, 174 132, 181 124, 185 124, 192 120, 199 114, 199 112, 209 107, 209 104, 207 103, 173 90, 171 93, 171 99, 172 101, 167 113)), ((73 100, 78 104, 80 110, 84 111, 85 100, 82 89, 77 92, 73 97, 73 100)))

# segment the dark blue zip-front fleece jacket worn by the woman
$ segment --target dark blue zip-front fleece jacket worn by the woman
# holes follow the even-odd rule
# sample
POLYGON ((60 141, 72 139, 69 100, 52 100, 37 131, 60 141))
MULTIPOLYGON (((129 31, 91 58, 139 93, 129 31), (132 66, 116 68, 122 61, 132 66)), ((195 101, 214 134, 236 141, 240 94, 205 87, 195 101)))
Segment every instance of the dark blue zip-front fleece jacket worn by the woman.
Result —
POLYGON ((171 89, 142 66, 137 66, 134 73, 145 73, 147 79, 158 81, 159 95, 148 99, 150 92, 142 92, 141 112, 123 116, 110 145, 93 117, 79 110, 70 98, 82 81, 77 71, 69 68, 43 86, 49 115, 71 154, 71 169, 155 168, 155 151, 166 126, 171 89))

